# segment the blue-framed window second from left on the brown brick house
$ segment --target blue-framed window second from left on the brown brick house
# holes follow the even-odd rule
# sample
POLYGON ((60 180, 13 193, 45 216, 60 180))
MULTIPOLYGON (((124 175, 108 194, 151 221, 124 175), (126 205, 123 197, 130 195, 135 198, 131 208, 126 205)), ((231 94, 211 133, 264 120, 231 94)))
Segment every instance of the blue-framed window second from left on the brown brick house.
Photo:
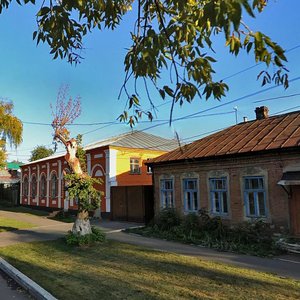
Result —
POLYGON ((183 180, 183 201, 185 211, 197 212, 199 210, 197 179, 183 180))

